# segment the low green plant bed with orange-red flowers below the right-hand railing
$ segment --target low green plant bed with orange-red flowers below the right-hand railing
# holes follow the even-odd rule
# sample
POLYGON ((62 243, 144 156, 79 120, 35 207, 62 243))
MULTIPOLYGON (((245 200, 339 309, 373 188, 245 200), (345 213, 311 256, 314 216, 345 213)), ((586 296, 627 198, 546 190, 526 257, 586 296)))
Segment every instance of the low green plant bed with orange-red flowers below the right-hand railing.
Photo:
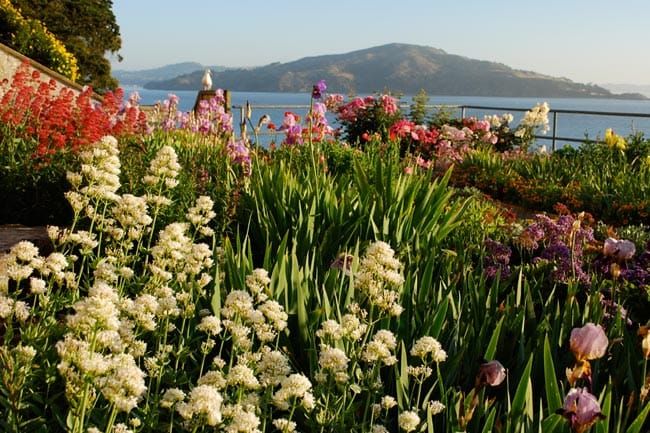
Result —
POLYGON ((610 224, 640 224, 650 215, 650 153, 647 140, 628 142, 625 152, 592 142, 517 157, 482 149, 457 166, 452 183, 534 210, 562 203, 610 224))

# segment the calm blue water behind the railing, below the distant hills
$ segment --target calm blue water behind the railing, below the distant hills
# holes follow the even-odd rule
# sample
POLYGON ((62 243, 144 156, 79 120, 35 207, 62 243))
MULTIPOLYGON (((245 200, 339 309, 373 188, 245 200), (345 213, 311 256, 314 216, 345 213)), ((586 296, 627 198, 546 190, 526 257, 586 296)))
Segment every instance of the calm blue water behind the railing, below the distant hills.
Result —
MULTIPOLYGON (((165 90, 137 89, 141 96, 142 104, 154 104, 162 101, 171 93, 165 90)), ((129 89, 126 89, 127 93, 129 89)), ((194 105, 196 91, 175 91, 180 98, 180 109, 189 111, 194 105)), ((264 108, 255 109, 256 105, 308 105, 309 94, 307 93, 265 93, 265 92, 232 92, 232 105, 234 107, 246 104, 249 101, 253 106, 251 119, 256 121, 263 114, 269 114, 274 123, 282 122, 283 113, 288 108, 264 108)), ((499 97, 471 97, 471 96, 430 96, 429 103, 435 105, 480 105, 487 107, 506 107, 529 109, 539 102, 548 102, 551 109, 581 110, 581 111, 607 111, 616 113, 644 113, 650 115, 650 101, 616 100, 616 99, 582 99, 582 98, 499 98, 499 97)), ((402 103, 410 104, 411 97, 402 98, 402 103)), ((306 108, 291 108, 291 111, 304 115, 306 108)), ((483 117, 484 114, 501 114, 504 110, 470 110, 466 111, 467 116, 483 117)), ((234 109, 235 123, 239 122, 239 114, 234 109)), ((454 112, 460 115, 460 111, 454 112)), ((515 116, 516 125, 523 113, 512 112, 515 116)), ((553 127, 552 118, 551 128, 553 127)), ((614 117, 614 116, 591 116, 559 114, 557 122, 557 136, 570 138, 590 139, 602 137, 607 128, 613 128, 620 135, 628 135, 633 132, 642 131, 650 137, 650 118, 614 117)), ((549 132, 550 134, 550 132, 549 132)), ((542 140, 544 142, 546 140, 542 140)), ((558 147, 562 146, 558 142, 558 147)))

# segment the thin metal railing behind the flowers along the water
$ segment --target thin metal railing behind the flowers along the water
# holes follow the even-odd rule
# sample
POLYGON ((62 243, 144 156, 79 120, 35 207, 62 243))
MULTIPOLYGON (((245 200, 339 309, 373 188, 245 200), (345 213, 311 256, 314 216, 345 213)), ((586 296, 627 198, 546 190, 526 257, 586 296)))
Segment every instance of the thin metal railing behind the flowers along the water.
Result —
MULTIPOLYGON (((401 104, 400 108, 402 110, 408 109, 410 106, 408 104, 401 104)), ((461 118, 464 118, 467 114, 467 110, 482 110, 489 112, 521 112, 525 113, 529 111, 529 108, 515 108, 515 107, 494 107, 494 106, 483 106, 483 105, 426 105, 428 109, 445 109, 445 110, 457 110, 460 111, 461 118)), ((233 105, 233 109, 238 109, 240 112, 240 132, 242 135, 246 135, 246 124, 247 124, 247 111, 249 109, 255 110, 302 110, 309 109, 307 104, 285 104, 285 105, 272 105, 272 104, 260 104, 260 105, 233 105)), ((569 143, 584 143, 585 138, 577 137, 562 137, 557 135, 558 131, 558 117, 561 114, 567 115, 582 115, 582 116, 610 116, 610 117, 622 117, 622 118, 645 118, 650 119, 650 113, 628 113, 620 111, 588 111, 588 110, 566 110, 566 109, 550 109, 549 117, 552 122, 551 135, 535 135, 536 139, 540 140, 549 140, 551 141, 551 149, 556 150, 556 145, 558 141, 569 142, 569 143)), ((250 120, 249 120, 250 123, 250 120)), ((264 133, 260 133, 263 135, 264 133)), ((267 133, 268 134, 268 133, 267 133)))

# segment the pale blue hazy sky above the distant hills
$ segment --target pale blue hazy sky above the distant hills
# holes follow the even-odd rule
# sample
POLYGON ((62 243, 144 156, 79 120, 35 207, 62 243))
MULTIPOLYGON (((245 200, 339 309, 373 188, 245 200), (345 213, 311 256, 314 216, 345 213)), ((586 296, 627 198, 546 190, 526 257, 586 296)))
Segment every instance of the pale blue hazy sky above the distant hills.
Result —
POLYGON ((114 0, 122 63, 256 66, 391 42, 578 82, 650 84, 649 0, 114 0))

